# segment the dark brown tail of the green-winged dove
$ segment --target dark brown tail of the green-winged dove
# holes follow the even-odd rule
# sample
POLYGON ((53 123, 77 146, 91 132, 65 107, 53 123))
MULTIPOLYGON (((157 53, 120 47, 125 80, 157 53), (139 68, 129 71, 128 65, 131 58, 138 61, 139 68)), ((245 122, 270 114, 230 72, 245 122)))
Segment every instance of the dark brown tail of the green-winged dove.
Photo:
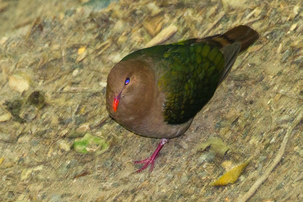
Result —
POLYGON ((251 44, 253 44, 259 38, 258 32, 246 25, 239 25, 231 30, 225 32, 222 35, 219 35, 215 38, 212 38, 213 41, 217 41, 223 47, 232 44, 234 42, 240 42, 241 48, 240 52, 244 51, 251 44))

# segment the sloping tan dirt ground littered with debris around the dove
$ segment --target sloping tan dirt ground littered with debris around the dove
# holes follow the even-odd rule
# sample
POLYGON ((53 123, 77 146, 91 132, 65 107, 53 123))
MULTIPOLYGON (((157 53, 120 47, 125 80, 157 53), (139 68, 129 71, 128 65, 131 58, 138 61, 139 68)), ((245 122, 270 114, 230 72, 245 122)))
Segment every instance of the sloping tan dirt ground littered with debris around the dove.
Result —
POLYGON ((301 1, 125 0, 105 9, 40 1, 45 8, 30 12, 33 2, 0 1, 1 20, 11 22, 0 34, 0 201, 245 201, 264 177, 248 201, 303 201, 301 1), (113 65, 147 44, 241 24, 258 31, 258 41, 188 131, 165 145, 154 171, 129 175, 139 168, 131 161, 151 155, 159 140, 109 118, 113 65), (87 132, 102 143, 84 154, 72 145, 87 132), (231 152, 201 150, 210 137, 231 152), (248 159, 235 184, 209 186, 248 159))

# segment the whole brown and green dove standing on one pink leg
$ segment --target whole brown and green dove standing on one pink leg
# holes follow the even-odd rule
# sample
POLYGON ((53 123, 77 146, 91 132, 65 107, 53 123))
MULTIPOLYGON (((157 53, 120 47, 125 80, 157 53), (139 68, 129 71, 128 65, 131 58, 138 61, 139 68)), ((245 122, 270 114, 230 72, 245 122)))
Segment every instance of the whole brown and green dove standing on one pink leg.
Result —
POLYGON ((128 130, 161 138, 151 157, 135 164, 150 165, 169 139, 187 131, 195 115, 214 95, 239 53, 258 39, 245 25, 225 34, 193 38, 135 51, 110 71, 106 106, 109 115, 128 130))

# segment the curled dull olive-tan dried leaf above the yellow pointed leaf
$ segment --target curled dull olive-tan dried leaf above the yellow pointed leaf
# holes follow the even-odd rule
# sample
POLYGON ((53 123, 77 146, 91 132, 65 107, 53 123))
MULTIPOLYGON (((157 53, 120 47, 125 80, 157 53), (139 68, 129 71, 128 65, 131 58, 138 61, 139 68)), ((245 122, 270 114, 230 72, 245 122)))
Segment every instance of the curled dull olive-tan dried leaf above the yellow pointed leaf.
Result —
POLYGON ((199 150, 205 150, 207 147, 209 147, 209 151, 211 153, 220 158, 223 158, 226 152, 230 150, 228 146, 226 146, 220 139, 217 138, 209 138, 199 147, 199 150))

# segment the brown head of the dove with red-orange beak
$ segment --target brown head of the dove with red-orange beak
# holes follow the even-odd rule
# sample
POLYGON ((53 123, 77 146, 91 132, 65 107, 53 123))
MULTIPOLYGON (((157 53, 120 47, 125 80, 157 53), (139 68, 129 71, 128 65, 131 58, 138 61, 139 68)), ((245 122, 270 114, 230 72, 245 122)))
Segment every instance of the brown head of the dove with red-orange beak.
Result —
POLYGON ((149 64, 118 62, 108 74, 106 108, 109 115, 131 131, 142 124, 155 100, 156 82, 149 64))

